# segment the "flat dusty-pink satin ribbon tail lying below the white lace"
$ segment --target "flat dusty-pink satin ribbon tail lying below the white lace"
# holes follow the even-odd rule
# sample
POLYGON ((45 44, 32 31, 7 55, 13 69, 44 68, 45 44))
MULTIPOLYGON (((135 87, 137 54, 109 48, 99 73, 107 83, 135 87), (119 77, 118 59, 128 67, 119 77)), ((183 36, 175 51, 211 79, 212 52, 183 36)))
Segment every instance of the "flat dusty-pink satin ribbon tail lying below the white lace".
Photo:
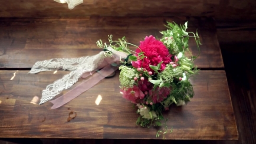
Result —
POLYGON ((92 77, 86 80, 85 82, 82 82, 80 85, 76 86, 75 88, 73 88, 66 94, 60 96, 59 98, 56 98, 55 100, 50 101, 51 103, 53 103, 53 106, 51 109, 59 108, 62 105, 65 105, 72 99, 81 95, 83 92, 92 88, 94 85, 96 85, 98 82, 100 82, 102 79, 104 79, 108 75, 115 72, 115 70, 117 69, 118 67, 112 67, 111 65, 105 66, 103 69, 95 73, 95 75, 92 75, 92 77))

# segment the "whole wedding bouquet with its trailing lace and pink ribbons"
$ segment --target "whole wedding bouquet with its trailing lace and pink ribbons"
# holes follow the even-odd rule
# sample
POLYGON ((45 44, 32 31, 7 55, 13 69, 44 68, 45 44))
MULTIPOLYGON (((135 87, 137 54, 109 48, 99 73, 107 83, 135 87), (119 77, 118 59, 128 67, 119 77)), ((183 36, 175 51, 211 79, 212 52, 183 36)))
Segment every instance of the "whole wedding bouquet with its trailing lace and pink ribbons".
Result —
POLYGON ((186 32, 186 29, 187 22, 180 26, 167 22, 167 30, 160 32, 163 35, 161 39, 146 36, 139 46, 127 43, 125 37, 113 41, 110 35, 109 44, 97 41, 97 46, 104 51, 95 56, 36 62, 29 73, 53 69, 71 71, 62 79, 47 85, 39 104, 72 87, 80 77, 86 78, 96 72, 66 94, 50 101, 53 103, 52 108, 59 108, 119 69, 123 98, 138 106, 139 117, 136 123, 142 127, 160 126, 162 120, 167 120, 162 115, 163 111, 168 110, 172 104, 184 105, 194 96, 189 78, 198 71, 193 63, 199 56, 201 43, 197 32, 186 32), (192 56, 188 49, 190 37, 197 43, 197 56, 192 56), (129 45, 137 49, 133 51, 129 45), (190 58, 185 55, 187 53, 190 58))

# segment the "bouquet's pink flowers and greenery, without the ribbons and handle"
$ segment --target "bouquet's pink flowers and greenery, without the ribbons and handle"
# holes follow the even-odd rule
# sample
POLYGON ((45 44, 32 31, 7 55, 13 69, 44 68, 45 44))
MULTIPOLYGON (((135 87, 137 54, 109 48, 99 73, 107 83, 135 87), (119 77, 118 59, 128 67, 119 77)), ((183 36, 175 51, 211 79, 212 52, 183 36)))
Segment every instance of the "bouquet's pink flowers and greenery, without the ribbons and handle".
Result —
MULTIPOLYGON (((193 62, 199 54, 188 58, 185 52, 190 53, 189 37, 196 40, 199 49, 199 36, 186 32, 187 22, 180 26, 167 22, 167 28, 160 32, 163 35, 161 39, 146 36, 139 46, 127 43, 125 37, 113 41, 112 35, 108 36, 108 45, 102 40, 97 42, 100 48, 111 47, 128 54, 126 59, 120 59, 123 64, 119 67, 120 93, 138 106, 136 123, 142 127, 161 126, 163 111, 172 104, 184 105, 194 96, 189 78, 198 71, 193 62), (128 45, 137 49, 132 51, 128 45)), ((105 51, 105 56, 112 54, 105 51)))

